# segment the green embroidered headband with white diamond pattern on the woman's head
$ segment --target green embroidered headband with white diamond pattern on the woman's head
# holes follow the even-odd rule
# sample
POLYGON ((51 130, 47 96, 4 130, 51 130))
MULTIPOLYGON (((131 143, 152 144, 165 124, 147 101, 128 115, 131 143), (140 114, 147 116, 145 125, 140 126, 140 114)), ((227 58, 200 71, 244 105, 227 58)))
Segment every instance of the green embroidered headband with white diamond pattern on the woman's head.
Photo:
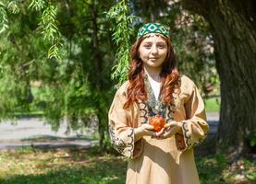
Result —
POLYGON ((161 23, 148 23, 139 29, 137 40, 149 33, 159 33, 168 39, 170 38, 170 30, 165 25, 161 23))

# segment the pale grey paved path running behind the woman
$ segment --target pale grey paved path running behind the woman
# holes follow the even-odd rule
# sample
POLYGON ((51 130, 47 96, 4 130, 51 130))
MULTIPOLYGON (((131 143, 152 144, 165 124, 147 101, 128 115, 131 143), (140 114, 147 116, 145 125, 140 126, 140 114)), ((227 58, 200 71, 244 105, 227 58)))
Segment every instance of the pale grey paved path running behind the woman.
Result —
MULTIPOLYGON (((210 133, 216 132, 219 113, 207 113, 207 120, 211 126, 210 133)), ((97 141, 90 139, 91 133, 96 131, 97 128, 92 127, 83 132, 67 133, 67 123, 62 123, 58 131, 54 132, 51 126, 41 118, 21 118, 15 123, 2 121, 0 123, 0 150, 30 145, 42 148, 89 147, 97 144, 97 141)))

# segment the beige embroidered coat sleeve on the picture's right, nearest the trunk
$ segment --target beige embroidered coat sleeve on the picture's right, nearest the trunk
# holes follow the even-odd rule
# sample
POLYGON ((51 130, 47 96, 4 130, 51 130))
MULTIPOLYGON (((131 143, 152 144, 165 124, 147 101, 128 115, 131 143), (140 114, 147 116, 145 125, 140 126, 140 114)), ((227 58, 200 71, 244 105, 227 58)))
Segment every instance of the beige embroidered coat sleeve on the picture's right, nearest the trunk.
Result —
POLYGON ((197 86, 192 83, 188 99, 184 104, 186 120, 182 122, 182 133, 176 134, 177 147, 185 151, 194 145, 201 144, 209 132, 203 100, 197 86))

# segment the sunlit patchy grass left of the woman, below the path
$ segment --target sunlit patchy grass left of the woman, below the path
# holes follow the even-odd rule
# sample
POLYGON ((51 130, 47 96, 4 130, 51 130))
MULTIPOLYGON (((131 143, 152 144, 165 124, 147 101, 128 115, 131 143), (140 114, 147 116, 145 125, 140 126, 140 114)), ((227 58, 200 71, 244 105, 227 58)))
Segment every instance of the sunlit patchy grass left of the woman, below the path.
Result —
POLYGON ((126 172, 121 156, 70 149, 3 152, 0 166, 1 184, 119 184, 126 172))

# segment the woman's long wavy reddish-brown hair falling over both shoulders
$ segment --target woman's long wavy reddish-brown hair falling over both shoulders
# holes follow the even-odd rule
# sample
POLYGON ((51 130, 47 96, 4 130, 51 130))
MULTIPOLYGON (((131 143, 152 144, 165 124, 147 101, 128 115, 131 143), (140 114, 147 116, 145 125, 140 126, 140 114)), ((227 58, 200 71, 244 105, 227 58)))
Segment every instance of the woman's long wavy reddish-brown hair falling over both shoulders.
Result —
MULTIPOLYGON (((178 86, 178 78, 179 74, 177 71, 177 60, 174 53, 174 49, 169 39, 162 37, 167 44, 167 55, 165 58, 165 62, 162 65, 162 71, 160 73, 160 81, 161 81, 161 95, 162 99, 166 104, 171 104, 173 100, 173 92, 175 88, 179 89, 178 86)), ((147 100, 147 92, 144 84, 144 70, 143 70, 143 62, 139 57, 139 47, 142 40, 145 38, 141 38, 136 41, 131 49, 130 58, 131 64, 129 66, 128 72, 128 89, 127 89, 127 97, 128 100, 124 104, 124 109, 129 109, 130 105, 134 102, 138 102, 138 100, 147 100)))

